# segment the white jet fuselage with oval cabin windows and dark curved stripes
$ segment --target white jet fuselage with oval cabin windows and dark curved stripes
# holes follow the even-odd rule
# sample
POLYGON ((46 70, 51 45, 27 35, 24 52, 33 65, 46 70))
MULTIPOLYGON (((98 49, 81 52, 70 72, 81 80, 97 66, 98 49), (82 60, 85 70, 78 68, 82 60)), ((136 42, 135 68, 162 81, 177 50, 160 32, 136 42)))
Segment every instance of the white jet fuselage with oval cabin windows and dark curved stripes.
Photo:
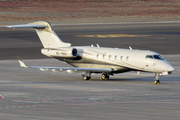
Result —
MULTIPOLYGON (((146 58, 147 55, 159 55, 145 50, 130 50, 105 47, 75 46, 78 58, 60 57, 58 49, 54 53, 42 51, 43 54, 65 61, 78 68, 112 69, 114 73, 127 71, 169 72, 173 67, 164 59, 146 58)), ((63 51, 64 54, 68 51, 63 51)), ((93 71, 92 71, 93 72, 93 71)))

